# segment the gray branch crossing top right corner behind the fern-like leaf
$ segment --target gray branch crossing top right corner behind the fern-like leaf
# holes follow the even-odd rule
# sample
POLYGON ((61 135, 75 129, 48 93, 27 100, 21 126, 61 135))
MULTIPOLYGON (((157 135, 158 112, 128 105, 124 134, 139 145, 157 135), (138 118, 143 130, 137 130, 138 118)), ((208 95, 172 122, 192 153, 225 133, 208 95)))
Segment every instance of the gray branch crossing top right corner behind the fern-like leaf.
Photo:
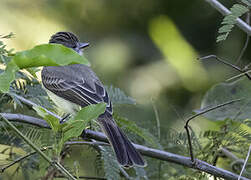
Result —
MULTIPOLYGON (((208 2, 214 9, 216 9, 217 11, 219 11, 224 16, 226 16, 226 15, 228 15, 228 14, 231 13, 224 5, 222 5, 217 0, 205 0, 205 1, 208 2)), ((236 19, 236 25, 241 30, 243 30, 244 32, 246 32, 249 36, 251 35, 251 27, 247 23, 245 23, 243 20, 241 20, 240 18, 236 19)))

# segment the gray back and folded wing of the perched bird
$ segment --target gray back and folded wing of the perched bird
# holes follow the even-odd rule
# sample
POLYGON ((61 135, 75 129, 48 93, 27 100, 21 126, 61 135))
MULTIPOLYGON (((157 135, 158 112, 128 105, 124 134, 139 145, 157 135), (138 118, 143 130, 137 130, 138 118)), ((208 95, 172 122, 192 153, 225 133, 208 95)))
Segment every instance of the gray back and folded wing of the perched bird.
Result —
POLYGON ((106 113, 112 115, 108 94, 88 66, 73 64, 44 67, 42 80, 46 89, 81 107, 105 102, 107 103, 106 113))

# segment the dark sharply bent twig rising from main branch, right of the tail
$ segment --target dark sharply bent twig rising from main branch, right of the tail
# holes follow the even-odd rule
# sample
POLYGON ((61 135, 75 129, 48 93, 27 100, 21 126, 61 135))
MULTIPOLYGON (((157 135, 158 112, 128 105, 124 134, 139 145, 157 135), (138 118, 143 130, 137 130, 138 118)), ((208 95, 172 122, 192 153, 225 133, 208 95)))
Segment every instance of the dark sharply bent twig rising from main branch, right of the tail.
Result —
POLYGON ((226 102, 226 103, 219 104, 219 105, 214 106, 214 107, 212 107, 212 108, 205 109, 205 110, 203 110, 203 111, 201 111, 201 112, 199 112, 199 113, 197 113, 197 114, 195 114, 195 115, 189 117, 189 118, 186 120, 186 124, 185 124, 184 128, 185 128, 186 133, 187 133, 188 147, 189 147, 189 153, 190 153, 190 157, 191 157, 192 163, 194 163, 195 161, 194 161, 194 156, 193 156, 193 147, 192 147, 191 135, 190 135, 190 132, 189 132, 189 122, 190 122, 192 119, 194 119, 194 118, 196 118, 196 117, 198 117, 198 116, 200 116, 200 115, 202 115, 202 114, 205 114, 205 113, 207 113, 207 112, 213 111, 213 110, 218 109, 218 108, 221 108, 221 107, 223 107, 223 106, 226 106, 226 105, 229 105, 229 104, 238 102, 238 101, 240 101, 240 100, 242 100, 242 99, 236 99, 236 100, 228 101, 228 102, 226 102))

